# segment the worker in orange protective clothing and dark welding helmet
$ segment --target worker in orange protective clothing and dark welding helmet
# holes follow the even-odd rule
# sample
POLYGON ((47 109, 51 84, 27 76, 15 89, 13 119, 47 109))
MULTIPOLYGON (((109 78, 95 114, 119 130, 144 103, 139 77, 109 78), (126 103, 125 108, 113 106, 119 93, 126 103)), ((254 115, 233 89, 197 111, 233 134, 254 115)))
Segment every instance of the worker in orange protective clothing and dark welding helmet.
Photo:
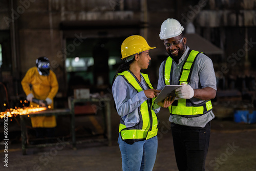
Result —
MULTIPOLYGON (((53 109, 53 98, 57 94, 59 86, 55 73, 50 70, 50 61, 47 57, 42 56, 36 59, 36 67, 27 71, 22 80, 22 87, 30 102, 30 107, 44 106, 44 103, 41 102, 46 101, 46 106, 53 109), (40 100, 40 104, 35 103, 35 99, 40 100)), ((54 136, 55 116, 31 117, 31 124, 35 129, 36 138, 54 136)))

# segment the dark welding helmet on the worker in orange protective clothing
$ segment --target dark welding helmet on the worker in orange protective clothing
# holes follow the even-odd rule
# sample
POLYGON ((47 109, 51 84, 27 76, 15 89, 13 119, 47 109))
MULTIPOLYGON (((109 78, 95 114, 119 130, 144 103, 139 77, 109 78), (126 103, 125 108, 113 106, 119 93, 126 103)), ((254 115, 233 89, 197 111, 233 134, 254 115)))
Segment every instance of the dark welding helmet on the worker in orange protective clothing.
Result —
POLYGON ((42 56, 36 59, 35 61, 37 71, 40 75, 47 76, 50 74, 50 61, 47 57, 42 56))

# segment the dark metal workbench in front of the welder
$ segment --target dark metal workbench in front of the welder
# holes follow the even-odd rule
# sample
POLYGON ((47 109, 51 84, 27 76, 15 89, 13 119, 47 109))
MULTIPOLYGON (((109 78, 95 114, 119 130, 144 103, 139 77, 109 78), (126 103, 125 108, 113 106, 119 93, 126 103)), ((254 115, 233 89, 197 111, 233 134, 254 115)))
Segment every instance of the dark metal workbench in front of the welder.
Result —
MULTIPOLYGON (((111 110, 110 110, 110 100, 108 99, 98 99, 98 98, 90 98, 90 99, 70 99, 71 109, 53 109, 53 110, 46 110, 40 111, 35 113, 30 113, 26 115, 19 115, 20 117, 20 127, 22 132, 22 152, 23 155, 26 155, 26 148, 30 147, 45 147, 45 146, 53 146, 56 143, 49 143, 49 144, 36 144, 31 145, 28 143, 27 137, 27 127, 26 127, 26 118, 35 117, 35 116, 70 116, 70 130, 72 135, 72 142, 69 141, 61 141, 61 143, 71 144, 73 149, 76 149, 77 143, 85 143, 85 142, 102 142, 107 141, 108 145, 111 145, 111 110), (75 112, 74 107, 75 103, 78 102, 93 102, 96 103, 94 105, 99 106, 99 110, 103 110, 103 123, 104 123, 104 138, 102 139, 86 139, 83 141, 76 141, 76 133, 75 133, 75 112)), ((97 109, 98 110, 98 109, 97 109)))

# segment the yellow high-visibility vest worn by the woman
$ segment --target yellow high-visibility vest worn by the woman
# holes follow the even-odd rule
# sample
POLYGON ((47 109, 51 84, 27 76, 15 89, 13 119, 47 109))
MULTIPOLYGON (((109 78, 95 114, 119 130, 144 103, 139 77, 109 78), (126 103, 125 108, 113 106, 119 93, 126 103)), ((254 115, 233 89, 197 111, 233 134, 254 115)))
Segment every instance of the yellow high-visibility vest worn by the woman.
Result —
MULTIPOLYGON (((150 79, 147 74, 141 73, 145 79, 148 87, 153 89, 150 79)), ((143 87, 135 78, 135 76, 130 71, 124 71, 118 73, 117 75, 123 76, 127 83, 137 90, 137 92, 143 91, 143 87)), ((132 127, 126 127, 123 120, 121 119, 119 125, 119 133, 121 134, 122 140, 127 143, 134 143, 141 140, 147 140, 157 135, 158 131, 158 119, 156 113, 152 110, 152 105, 148 100, 145 100, 138 108, 138 113, 140 115, 140 121, 138 124, 132 127)))

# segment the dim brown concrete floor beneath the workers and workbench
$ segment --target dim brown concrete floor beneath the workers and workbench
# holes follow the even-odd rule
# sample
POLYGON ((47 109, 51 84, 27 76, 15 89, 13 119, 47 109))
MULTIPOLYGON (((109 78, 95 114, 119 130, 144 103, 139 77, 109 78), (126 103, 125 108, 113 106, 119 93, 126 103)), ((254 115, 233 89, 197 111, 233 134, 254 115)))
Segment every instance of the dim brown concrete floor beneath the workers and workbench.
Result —
MULTIPOLYGON (((217 114, 216 114, 217 115, 217 114)), ((155 171, 176 171, 172 133, 168 111, 161 109, 158 133, 158 153, 155 171)), ((76 120, 76 122, 81 119, 76 120)), ((63 121, 63 123, 65 123, 63 121)), ((106 143, 77 144, 74 151, 70 145, 28 148, 22 155, 19 140, 9 141, 8 167, 4 166, 4 145, 1 144, 0 170, 97 170, 121 171, 121 154, 117 144, 119 117, 112 109, 112 146, 106 143)), ((1 125, 2 126, 2 125, 1 125)), ((15 126, 13 126, 15 127, 15 126)), ((11 128, 10 128, 11 129, 11 128)), ((63 129, 65 130, 65 129, 63 129)), ((10 130, 11 131, 11 130, 10 130)), ((16 135, 19 132, 16 133, 16 135)), ((233 122, 232 119, 214 119, 211 122, 211 137, 206 170, 253 171, 256 170, 256 124, 233 122)))

